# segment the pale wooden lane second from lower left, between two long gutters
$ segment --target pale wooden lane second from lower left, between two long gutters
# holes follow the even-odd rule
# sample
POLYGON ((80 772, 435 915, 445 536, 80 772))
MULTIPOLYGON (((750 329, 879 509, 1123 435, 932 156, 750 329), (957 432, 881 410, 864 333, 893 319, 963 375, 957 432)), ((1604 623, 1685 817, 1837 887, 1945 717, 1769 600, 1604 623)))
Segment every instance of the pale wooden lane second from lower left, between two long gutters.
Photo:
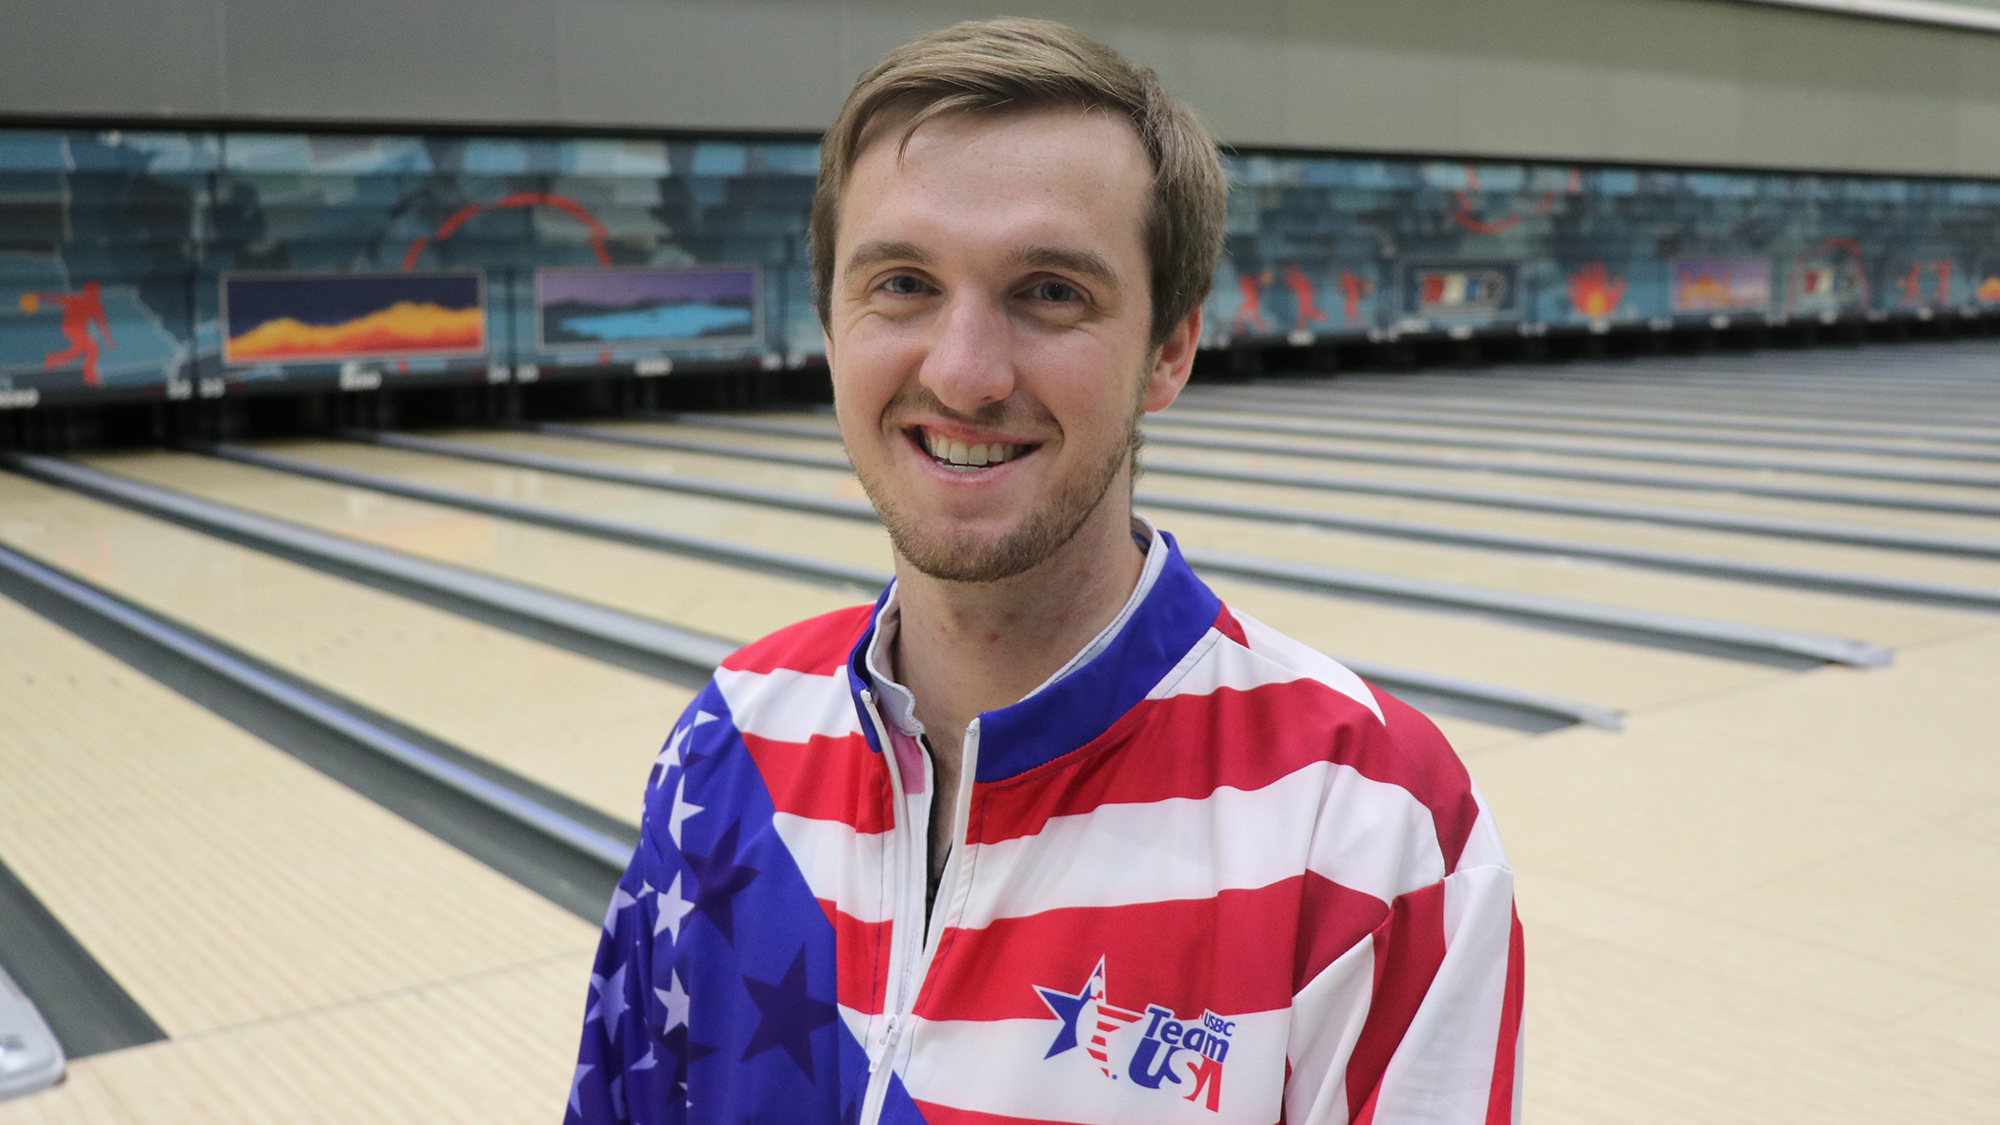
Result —
MULTIPOLYGON (((190 458, 192 460, 192 458, 190 458)), ((0 474, 0 542, 624 821, 692 693, 0 474), (524 705, 524 701, 532 701, 524 705)), ((478 540, 452 520, 410 526, 478 540)))

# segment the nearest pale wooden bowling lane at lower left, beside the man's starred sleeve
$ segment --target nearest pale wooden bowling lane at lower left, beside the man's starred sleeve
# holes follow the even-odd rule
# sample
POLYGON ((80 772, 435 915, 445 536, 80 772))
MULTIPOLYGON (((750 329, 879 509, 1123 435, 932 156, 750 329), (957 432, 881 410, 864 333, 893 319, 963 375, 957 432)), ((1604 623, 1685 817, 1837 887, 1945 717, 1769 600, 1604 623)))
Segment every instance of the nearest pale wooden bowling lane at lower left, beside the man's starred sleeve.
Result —
MULTIPOLYGON (((8 528, 48 518, 14 488, 0 506, 8 528)), ((100 560, 118 558, 130 534, 102 530, 100 560)), ((158 565, 178 562, 168 548, 158 565)), ((594 943, 592 925, 6 599, 0 637, 0 857, 168 1035, 594 943)), ((478 1049, 508 1031, 456 1035, 478 1049)))

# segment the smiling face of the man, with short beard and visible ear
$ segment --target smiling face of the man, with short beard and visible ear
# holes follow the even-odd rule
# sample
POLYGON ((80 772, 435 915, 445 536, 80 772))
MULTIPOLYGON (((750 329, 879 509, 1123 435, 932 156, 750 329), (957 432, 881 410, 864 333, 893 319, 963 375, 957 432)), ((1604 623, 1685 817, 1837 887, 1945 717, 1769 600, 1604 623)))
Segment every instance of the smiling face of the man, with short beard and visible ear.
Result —
POLYGON ((1152 168, 1124 120, 942 116, 898 160, 900 134, 874 130, 842 196, 840 434, 904 558, 998 581, 1094 514, 1122 522, 1100 500, 1124 496, 1138 412, 1174 400, 1198 320, 1152 346, 1152 168))

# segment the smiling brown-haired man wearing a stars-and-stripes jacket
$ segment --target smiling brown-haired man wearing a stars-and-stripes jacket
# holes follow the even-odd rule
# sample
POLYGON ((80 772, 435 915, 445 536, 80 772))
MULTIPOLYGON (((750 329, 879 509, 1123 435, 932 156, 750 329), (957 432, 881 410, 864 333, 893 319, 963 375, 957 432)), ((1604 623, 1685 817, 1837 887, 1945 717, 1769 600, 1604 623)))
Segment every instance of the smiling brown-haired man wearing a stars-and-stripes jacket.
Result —
POLYGON ((736 653, 606 919, 572 1121, 1510 1121, 1512 879, 1438 731, 1132 516, 1224 182, 1044 22, 864 74, 814 268, 874 607, 736 653))

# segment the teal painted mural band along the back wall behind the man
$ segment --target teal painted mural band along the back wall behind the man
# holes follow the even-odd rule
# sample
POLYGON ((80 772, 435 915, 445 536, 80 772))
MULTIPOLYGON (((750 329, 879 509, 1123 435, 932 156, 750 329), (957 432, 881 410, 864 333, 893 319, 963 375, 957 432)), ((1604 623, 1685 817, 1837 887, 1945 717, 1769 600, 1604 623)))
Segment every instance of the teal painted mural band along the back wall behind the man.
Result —
MULTIPOLYGON (((2000 310, 2000 182, 1240 154, 1204 344, 2000 310)), ((0 130, 0 406, 820 350, 818 146, 0 130)))

